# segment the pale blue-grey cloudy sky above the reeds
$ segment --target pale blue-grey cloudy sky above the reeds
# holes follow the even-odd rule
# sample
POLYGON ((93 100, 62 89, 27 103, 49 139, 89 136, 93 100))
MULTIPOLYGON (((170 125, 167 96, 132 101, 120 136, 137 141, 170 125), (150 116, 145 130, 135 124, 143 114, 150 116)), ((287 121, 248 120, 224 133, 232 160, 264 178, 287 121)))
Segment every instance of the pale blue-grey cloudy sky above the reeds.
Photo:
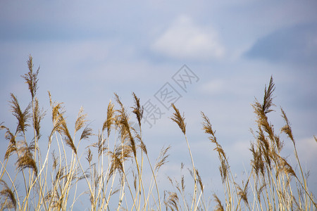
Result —
MULTIPOLYGON (((316 195, 316 8, 317 1, 0 1, 0 122, 15 127, 11 92, 24 106, 30 99, 20 75, 31 54, 35 68, 40 66, 40 103, 49 114, 51 91, 66 106, 71 125, 83 106, 95 131, 101 129, 114 92, 127 107, 132 91, 144 106, 155 106, 160 117, 154 122, 149 114, 144 141, 153 158, 162 146, 172 147, 163 177, 178 177, 180 162, 190 165, 166 108, 175 101, 185 113, 197 168, 216 191, 218 160, 201 130, 200 111, 243 178, 253 140, 249 129, 256 129, 251 103, 261 100, 272 75, 276 112, 269 117, 279 132, 280 106, 287 113, 316 195), (174 95, 162 98, 168 90, 174 95)), ((49 131, 46 119, 43 129, 49 131)), ((7 143, 1 136, 3 155, 7 143)), ((292 159, 288 139, 285 155, 292 159)))

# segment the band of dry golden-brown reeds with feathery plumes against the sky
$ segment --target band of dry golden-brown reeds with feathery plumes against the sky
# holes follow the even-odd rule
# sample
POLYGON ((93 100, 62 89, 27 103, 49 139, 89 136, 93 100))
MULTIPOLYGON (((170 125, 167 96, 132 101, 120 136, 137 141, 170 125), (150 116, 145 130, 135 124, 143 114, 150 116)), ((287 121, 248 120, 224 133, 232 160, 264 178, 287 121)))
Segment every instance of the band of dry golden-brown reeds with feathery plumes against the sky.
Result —
MULTIPOLYGON (((53 101, 49 93, 52 128, 48 139, 43 138, 41 121, 46 113, 37 98, 39 69, 33 70, 32 56, 27 60, 27 67, 28 72, 22 77, 30 91, 30 103, 23 109, 17 96, 11 94, 10 106, 17 120, 16 128, 0 124, 8 141, 0 162, 0 210, 73 210, 80 198, 89 198, 89 207, 85 207, 89 210, 316 210, 316 198, 309 191, 307 174, 299 160, 284 110, 280 108, 285 121, 281 132, 294 147, 298 168, 282 157, 284 143, 268 120, 268 113, 274 106, 272 77, 265 88, 263 101, 256 100, 252 105, 257 128, 249 148, 252 155, 250 171, 242 186, 235 181, 228 156, 209 117, 201 112, 202 129, 219 158, 224 189, 224 196, 205 196, 204 184, 194 165, 187 139, 185 117, 174 104, 170 119, 180 127, 192 161, 189 168, 192 181, 189 183, 193 189, 190 193, 185 190, 184 175, 180 181, 168 177, 176 191, 159 185, 159 170, 167 162, 170 146, 162 148, 156 162, 151 163, 142 139, 144 110, 135 93, 132 93, 135 102, 132 114, 139 129, 132 127, 127 108, 115 94, 116 105, 111 101, 108 103, 106 118, 97 134, 87 124, 83 108, 79 110, 75 127, 70 128, 63 103, 53 101), (85 139, 93 140, 93 137, 97 140, 94 143, 82 143, 85 139), (39 148, 39 141, 46 141, 47 148, 39 148), (13 162, 15 171, 9 167, 13 162), (146 171, 151 175, 150 179, 144 178, 146 171), (210 198, 213 198, 213 206, 208 203, 210 198)), ((317 141, 316 137, 314 139, 317 141)), ((184 168, 183 164, 181 168, 184 168)))

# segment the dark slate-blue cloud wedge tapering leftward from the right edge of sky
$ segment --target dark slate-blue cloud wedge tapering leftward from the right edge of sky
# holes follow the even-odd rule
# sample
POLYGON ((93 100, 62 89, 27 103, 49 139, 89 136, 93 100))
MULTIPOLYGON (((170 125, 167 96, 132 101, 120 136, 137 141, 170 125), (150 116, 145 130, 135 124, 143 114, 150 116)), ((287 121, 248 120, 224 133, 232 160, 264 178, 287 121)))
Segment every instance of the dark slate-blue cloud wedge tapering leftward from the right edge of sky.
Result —
POLYGON ((317 63, 317 25, 305 24, 277 30, 262 37, 244 56, 270 62, 317 63))

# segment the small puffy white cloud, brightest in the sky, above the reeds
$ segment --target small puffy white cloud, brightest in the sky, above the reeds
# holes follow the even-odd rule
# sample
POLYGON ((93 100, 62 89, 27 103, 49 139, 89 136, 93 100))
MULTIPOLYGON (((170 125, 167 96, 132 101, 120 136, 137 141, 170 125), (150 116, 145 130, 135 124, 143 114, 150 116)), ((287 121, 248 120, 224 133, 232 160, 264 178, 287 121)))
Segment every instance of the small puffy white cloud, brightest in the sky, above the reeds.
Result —
POLYGON ((218 59, 225 53, 215 30, 194 25, 185 15, 176 18, 156 39, 152 49, 171 58, 194 60, 218 59))

